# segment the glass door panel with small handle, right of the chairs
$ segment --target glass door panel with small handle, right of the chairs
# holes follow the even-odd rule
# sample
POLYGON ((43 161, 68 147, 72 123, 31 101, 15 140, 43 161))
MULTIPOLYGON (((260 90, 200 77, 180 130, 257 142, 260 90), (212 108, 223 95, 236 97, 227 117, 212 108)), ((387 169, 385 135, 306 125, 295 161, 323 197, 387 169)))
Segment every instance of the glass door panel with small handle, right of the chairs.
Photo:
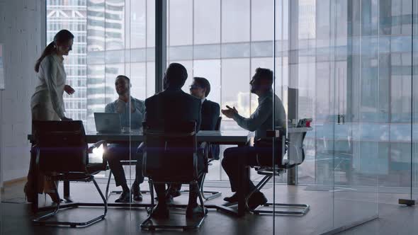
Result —
POLYGON ((334 228, 377 217, 385 156, 378 1, 332 1, 334 228))

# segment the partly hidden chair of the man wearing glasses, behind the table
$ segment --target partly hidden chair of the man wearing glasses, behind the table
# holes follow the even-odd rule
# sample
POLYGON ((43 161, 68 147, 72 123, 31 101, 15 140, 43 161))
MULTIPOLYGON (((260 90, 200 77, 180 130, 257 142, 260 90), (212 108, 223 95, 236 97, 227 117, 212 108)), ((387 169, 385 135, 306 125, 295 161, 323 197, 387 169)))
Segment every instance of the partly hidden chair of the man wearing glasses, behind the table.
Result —
MULTIPOLYGON (((220 122, 222 121, 222 117, 218 117, 218 120, 216 121, 216 125, 215 125, 215 130, 220 130, 220 122)), ((211 200, 213 198, 216 197, 220 197, 222 195, 222 193, 220 191, 205 191, 203 190, 203 183, 205 183, 205 177, 206 174, 209 172, 209 166, 212 166, 212 164, 210 164, 212 161, 214 160, 219 160, 219 159, 214 159, 212 156, 213 151, 218 151, 218 153, 215 153, 215 155, 219 156, 219 145, 212 145, 210 143, 208 144, 203 144, 203 146, 200 146, 200 148, 203 148, 203 153, 205 155, 205 175, 203 175, 202 177, 202 181, 200 183, 200 193, 202 193, 202 197, 205 200, 211 200), (206 196, 208 195, 208 196, 206 196)), ((188 190, 181 190, 181 193, 187 193, 188 190)))

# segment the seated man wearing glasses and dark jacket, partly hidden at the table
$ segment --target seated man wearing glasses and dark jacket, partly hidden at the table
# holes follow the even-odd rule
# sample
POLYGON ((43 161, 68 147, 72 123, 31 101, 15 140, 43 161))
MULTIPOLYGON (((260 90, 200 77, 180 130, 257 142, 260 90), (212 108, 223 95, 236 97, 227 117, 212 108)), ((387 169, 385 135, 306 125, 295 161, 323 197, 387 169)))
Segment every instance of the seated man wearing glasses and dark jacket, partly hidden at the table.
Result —
MULTIPOLYGON (((207 97, 210 93, 210 83, 208 79, 195 76, 193 78, 193 84, 190 86, 190 94, 198 99, 202 103, 200 113, 202 115, 202 122, 200 124, 200 130, 215 130, 216 122, 220 115, 220 105, 213 101, 209 101, 207 97)), ((219 145, 213 144, 210 146, 209 154, 212 159, 219 159, 219 145)), ((181 185, 170 185, 169 193, 167 194, 168 201, 172 200, 172 197, 179 197, 181 185)))

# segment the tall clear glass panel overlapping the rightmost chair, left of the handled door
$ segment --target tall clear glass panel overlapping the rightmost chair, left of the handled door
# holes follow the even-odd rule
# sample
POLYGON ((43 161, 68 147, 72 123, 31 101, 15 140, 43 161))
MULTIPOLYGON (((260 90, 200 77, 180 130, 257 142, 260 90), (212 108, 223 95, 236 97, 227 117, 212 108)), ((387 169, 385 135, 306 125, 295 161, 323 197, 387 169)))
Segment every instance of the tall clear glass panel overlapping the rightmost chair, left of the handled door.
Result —
MULTIPOLYGON (((276 234, 322 234, 333 229, 335 81, 330 2, 276 1, 274 87, 286 110, 284 162, 299 165, 285 171, 284 184, 276 181, 274 202, 310 205, 301 217, 276 216, 276 234)), ((275 207, 276 214, 282 211, 301 212, 303 207, 275 207)))

